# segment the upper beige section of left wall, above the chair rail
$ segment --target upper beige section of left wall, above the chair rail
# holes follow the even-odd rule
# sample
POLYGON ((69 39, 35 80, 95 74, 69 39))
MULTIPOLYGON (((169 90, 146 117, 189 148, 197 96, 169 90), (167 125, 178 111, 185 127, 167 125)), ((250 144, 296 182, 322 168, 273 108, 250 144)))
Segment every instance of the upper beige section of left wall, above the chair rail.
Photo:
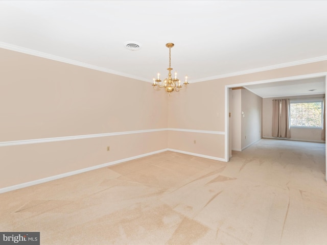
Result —
POLYGON ((0 141, 165 128, 148 83, 0 49, 0 141))

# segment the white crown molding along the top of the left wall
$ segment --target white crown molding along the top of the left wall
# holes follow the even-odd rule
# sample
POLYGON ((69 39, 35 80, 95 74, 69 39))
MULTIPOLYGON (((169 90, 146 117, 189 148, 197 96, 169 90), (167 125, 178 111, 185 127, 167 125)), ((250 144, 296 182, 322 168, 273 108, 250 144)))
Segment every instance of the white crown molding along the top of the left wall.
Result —
POLYGON ((37 57, 41 57, 41 58, 45 58, 45 59, 49 59, 49 60, 55 60, 55 61, 59 61, 59 62, 71 64, 71 65, 77 65, 77 66, 89 68, 92 70, 99 70, 99 71, 107 72, 110 74, 114 74, 114 75, 118 75, 118 76, 122 76, 122 77, 126 77, 126 78, 132 78, 132 79, 136 79, 136 80, 149 82, 149 79, 146 79, 146 78, 141 78, 141 77, 126 74, 126 73, 123 73, 120 71, 104 68, 101 66, 91 65, 91 64, 80 62, 80 61, 71 60, 71 59, 63 58, 63 57, 56 56, 56 55, 51 55, 48 53, 43 53, 43 52, 36 51, 36 50, 31 50, 30 48, 16 46, 16 45, 5 43, 5 42, 0 42, 0 47, 5 48, 6 50, 12 50, 12 51, 16 51, 19 53, 33 55, 33 56, 37 56, 37 57))

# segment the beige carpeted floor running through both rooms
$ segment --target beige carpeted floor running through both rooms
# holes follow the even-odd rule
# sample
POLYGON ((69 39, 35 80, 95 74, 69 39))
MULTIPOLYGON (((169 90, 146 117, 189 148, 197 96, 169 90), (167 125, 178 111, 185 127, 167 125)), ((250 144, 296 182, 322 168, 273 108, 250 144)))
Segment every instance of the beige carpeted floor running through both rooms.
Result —
POLYGON ((0 194, 41 244, 327 244, 325 144, 262 139, 230 162, 164 152, 0 194))

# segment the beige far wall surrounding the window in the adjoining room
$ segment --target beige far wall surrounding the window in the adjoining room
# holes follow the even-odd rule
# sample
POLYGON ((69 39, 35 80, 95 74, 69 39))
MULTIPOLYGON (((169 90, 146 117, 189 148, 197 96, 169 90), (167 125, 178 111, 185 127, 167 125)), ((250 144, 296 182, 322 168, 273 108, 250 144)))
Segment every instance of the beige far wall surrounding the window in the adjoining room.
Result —
MULTIPOLYGON (((272 138, 272 100, 273 99, 304 99, 324 97, 324 94, 306 95, 306 96, 289 96, 287 98, 265 98, 263 99, 263 137, 272 138)), ((309 129, 309 128, 291 128, 292 140, 305 140, 324 142, 321 140, 321 129, 309 129)))

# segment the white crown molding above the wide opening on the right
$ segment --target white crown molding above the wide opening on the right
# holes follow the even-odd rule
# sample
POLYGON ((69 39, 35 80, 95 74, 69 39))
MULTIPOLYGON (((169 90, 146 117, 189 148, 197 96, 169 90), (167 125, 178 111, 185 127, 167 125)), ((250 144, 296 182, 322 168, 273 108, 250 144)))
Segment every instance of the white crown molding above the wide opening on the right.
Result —
POLYGON ((319 56, 319 57, 315 57, 315 58, 310 58, 310 59, 304 59, 304 60, 288 62, 288 63, 277 64, 277 65, 264 66, 264 67, 249 69, 249 70, 231 72, 231 73, 217 75, 217 76, 213 76, 213 77, 195 79, 195 80, 192 80, 192 83, 198 83, 198 82, 204 82, 204 81, 221 79, 221 78, 241 76, 241 75, 251 74, 251 73, 255 73, 255 72, 285 68, 285 67, 290 67, 290 66, 295 66, 295 65, 304 65, 304 64, 309 64, 309 63, 319 62, 319 61, 325 61, 325 60, 327 60, 327 55, 319 56))

